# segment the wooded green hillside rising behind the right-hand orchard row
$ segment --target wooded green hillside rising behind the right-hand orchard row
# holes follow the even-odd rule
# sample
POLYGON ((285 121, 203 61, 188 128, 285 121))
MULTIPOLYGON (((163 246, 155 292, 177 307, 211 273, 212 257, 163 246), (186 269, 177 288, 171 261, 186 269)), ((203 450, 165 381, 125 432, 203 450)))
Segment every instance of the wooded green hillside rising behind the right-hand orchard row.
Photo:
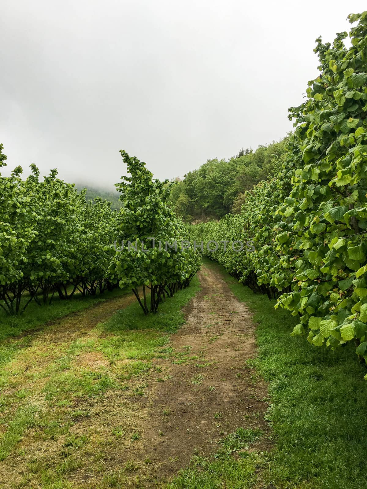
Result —
POLYGON ((255 151, 241 149, 237 156, 208 159, 188 172, 171 192, 171 205, 185 222, 221 218, 241 212, 244 192, 275 175, 285 156, 288 137, 255 151))

